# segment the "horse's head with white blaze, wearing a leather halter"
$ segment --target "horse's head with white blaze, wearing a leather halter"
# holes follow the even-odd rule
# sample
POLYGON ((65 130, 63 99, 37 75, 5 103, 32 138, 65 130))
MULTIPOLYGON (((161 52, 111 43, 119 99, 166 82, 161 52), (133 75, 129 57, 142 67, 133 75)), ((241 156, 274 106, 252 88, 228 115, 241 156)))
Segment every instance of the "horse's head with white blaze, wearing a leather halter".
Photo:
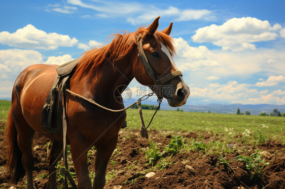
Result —
POLYGON ((133 74, 138 82, 148 85, 159 98, 166 98, 172 107, 182 106, 190 95, 182 73, 176 68, 172 56, 174 48, 169 36, 172 23, 163 31, 156 31, 158 20, 137 32, 138 55, 133 74))

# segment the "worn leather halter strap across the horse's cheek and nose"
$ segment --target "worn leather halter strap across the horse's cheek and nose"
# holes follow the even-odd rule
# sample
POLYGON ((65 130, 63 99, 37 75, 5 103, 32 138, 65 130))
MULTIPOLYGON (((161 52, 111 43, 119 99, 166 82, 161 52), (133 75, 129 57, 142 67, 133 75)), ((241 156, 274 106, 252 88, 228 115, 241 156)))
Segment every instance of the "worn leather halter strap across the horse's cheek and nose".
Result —
POLYGON ((148 58, 145 54, 144 49, 142 48, 141 34, 139 34, 137 37, 137 48, 138 48, 138 56, 142 62, 142 65, 144 65, 146 71, 151 76, 151 78, 154 80, 154 83, 156 85, 162 85, 162 84, 166 83, 167 81, 170 81, 171 79, 173 79, 175 77, 183 76, 181 71, 174 71, 174 72, 171 72, 171 73, 167 74, 166 76, 164 76, 160 79, 156 79, 154 70, 148 61, 148 58))

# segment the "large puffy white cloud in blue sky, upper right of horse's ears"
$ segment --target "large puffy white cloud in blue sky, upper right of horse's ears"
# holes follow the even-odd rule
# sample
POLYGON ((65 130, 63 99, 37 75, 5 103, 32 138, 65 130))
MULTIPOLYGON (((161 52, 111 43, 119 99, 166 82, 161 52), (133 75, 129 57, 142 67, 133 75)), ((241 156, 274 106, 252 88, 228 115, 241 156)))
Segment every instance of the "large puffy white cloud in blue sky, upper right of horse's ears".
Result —
POLYGON ((280 29, 279 24, 271 26, 267 20, 252 17, 232 18, 222 25, 212 24, 199 28, 192 40, 199 38, 198 42, 211 42, 232 52, 256 50, 254 42, 275 40, 278 36, 276 32, 280 29))

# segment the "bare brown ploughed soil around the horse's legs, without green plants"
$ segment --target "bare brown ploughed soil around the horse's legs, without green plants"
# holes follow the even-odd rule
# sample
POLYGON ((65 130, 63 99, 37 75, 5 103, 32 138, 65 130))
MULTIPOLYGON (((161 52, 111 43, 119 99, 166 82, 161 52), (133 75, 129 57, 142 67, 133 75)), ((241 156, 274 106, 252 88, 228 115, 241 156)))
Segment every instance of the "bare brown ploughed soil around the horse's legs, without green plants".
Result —
MULTIPOLYGON (((184 137, 196 138, 198 133, 179 133, 184 137)), ((207 133, 199 133, 207 142, 218 140, 217 136, 207 133)), ((162 148, 169 144, 169 131, 149 131, 150 138, 162 148)), ((0 188, 9 188, 6 176, 5 145, 3 133, 0 133, 0 188)), ((238 137, 238 136, 237 136, 238 137)), ((47 187, 47 147, 49 139, 35 135, 33 152, 34 185, 37 188, 47 187)), ((270 165, 263 170, 262 178, 250 179, 250 172, 246 169, 244 162, 236 161, 239 154, 245 156, 242 151, 231 154, 221 154, 228 165, 222 164, 217 154, 204 154, 202 152, 184 152, 171 156, 167 161, 165 169, 159 170, 147 165, 145 150, 150 141, 138 136, 138 131, 124 130, 119 133, 117 150, 113 153, 108 164, 107 172, 115 175, 106 182, 105 188, 285 188, 285 145, 279 141, 267 141, 259 146, 259 149, 269 152, 263 157, 270 165), (115 163, 114 163, 115 162, 115 163), (148 172, 154 172, 155 176, 147 178, 148 172)), ((238 144, 237 148, 242 145, 238 144)), ((250 147, 253 152, 254 147, 250 147)), ((94 155, 90 155, 89 171, 94 171, 94 155)), ((73 169, 73 168, 72 168, 73 169)), ((18 183, 18 188, 25 185, 25 178, 18 183)))

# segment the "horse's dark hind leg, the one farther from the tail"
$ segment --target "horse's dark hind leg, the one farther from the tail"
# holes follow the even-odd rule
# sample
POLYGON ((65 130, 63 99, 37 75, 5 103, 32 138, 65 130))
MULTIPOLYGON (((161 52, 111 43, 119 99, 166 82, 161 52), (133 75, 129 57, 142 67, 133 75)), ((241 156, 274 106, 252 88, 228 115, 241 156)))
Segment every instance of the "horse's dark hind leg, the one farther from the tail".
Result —
POLYGON ((49 183, 48 188, 57 188, 55 165, 61 159, 62 142, 54 140, 49 154, 49 183))

